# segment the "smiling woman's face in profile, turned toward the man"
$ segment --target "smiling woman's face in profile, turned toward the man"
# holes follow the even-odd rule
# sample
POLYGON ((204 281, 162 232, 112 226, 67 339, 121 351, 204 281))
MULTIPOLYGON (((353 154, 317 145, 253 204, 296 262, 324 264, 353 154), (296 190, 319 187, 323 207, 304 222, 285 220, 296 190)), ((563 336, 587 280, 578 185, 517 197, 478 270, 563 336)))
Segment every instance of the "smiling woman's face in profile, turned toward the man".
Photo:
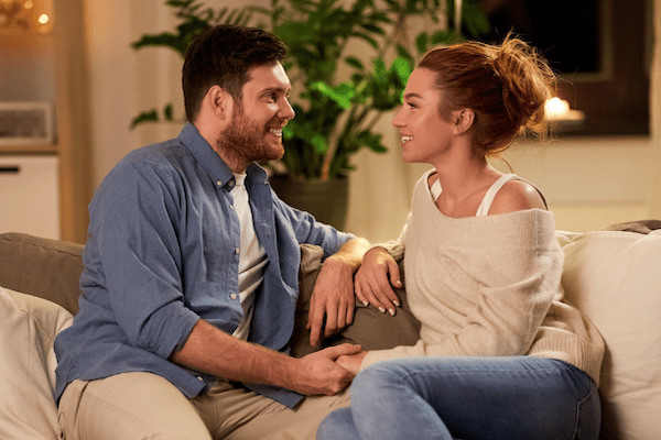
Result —
POLYGON ((451 146, 455 125, 441 117, 435 78, 436 74, 427 68, 413 70, 403 106, 392 120, 400 132, 404 162, 433 164, 451 146))

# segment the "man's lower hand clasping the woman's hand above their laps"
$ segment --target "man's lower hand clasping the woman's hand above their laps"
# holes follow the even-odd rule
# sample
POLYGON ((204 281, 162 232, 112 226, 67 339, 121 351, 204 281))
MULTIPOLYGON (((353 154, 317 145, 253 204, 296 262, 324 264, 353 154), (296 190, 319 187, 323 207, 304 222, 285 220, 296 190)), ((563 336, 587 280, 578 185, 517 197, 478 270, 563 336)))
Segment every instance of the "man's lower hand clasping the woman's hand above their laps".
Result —
POLYGON ((346 388, 354 380, 354 374, 335 362, 360 353, 360 345, 342 344, 311 353, 300 360, 301 378, 295 381, 291 389, 304 395, 324 394, 333 396, 346 388))

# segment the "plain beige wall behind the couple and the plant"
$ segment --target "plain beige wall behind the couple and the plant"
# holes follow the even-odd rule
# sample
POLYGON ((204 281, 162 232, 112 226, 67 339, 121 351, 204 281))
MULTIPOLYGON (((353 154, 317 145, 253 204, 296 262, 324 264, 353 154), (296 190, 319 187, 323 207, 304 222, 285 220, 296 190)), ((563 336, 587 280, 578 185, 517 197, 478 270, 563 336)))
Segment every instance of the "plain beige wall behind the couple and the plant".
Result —
MULTIPOLYGON (((139 52, 130 42, 173 28, 161 0, 87 0, 91 72, 95 185, 129 151, 176 135, 178 127, 128 127, 139 110, 172 101, 181 106, 181 59, 164 48, 139 52)), ((207 0, 207 4, 226 4, 207 0)), ((514 172, 546 194, 559 229, 586 231, 644 218, 661 219, 661 0, 654 0, 654 61, 650 138, 559 139, 543 146, 522 143, 506 155, 514 172)), ((175 106, 175 113, 181 107, 175 106)), ((399 160, 399 141, 383 118, 386 155, 355 157, 347 229, 372 241, 395 238, 411 189, 426 168, 399 160)), ((497 164, 496 164, 497 165, 497 164)), ((497 165, 500 166, 500 165, 497 165)))

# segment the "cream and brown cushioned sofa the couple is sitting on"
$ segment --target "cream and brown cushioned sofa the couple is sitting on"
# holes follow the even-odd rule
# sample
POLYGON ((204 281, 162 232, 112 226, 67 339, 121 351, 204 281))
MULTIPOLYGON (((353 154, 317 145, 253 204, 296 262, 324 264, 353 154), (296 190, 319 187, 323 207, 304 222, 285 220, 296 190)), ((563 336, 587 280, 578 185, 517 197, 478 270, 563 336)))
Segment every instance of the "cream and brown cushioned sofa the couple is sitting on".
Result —
MULTIPOLYGON (((566 298, 597 326, 606 342, 600 438, 661 439, 661 221, 556 235, 565 254, 566 298)), ((304 327, 305 302, 321 267, 321 251, 314 248, 301 249, 302 295, 290 341, 293 355, 311 350, 304 327)), ((23 233, 0 234, 2 439, 57 438, 53 341, 78 310, 83 249, 23 233)), ((355 323, 326 343, 354 341, 367 349, 412 344, 416 321, 405 302, 402 306, 397 320, 384 319, 373 307, 360 308, 355 323), (358 340, 359 333, 368 333, 367 339, 358 340)))

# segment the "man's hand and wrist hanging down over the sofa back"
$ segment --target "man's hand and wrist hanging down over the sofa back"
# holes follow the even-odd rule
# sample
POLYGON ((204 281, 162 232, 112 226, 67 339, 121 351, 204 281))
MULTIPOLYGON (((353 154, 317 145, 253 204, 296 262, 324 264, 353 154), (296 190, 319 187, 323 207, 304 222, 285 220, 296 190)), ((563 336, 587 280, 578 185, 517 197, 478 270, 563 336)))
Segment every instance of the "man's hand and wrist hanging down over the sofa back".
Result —
POLYGON ((307 328, 311 345, 316 345, 319 340, 324 317, 326 338, 354 320, 354 274, 369 248, 367 240, 353 239, 324 261, 310 300, 307 328))

